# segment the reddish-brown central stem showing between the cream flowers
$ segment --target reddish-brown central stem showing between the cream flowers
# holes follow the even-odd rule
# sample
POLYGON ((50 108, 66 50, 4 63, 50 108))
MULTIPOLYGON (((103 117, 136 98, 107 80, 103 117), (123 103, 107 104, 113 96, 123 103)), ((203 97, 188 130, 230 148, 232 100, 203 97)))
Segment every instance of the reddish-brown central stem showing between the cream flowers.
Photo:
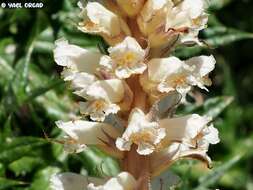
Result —
MULTIPOLYGON (((136 19, 128 18, 129 27, 131 28, 132 36, 139 42, 142 48, 147 47, 147 42, 136 23, 136 19)), ((131 108, 139 108, 144 113, 147 111, 147 94, 143 91, 139 76, 135 75, 127 79, 128 86, 131 88, 134 100, 131 108)), ((131 109, 130 109, 131 110, 131 109)), ((129 116, 130 113, 128 113, 129 116)), ((136 190, 149 190, 150 184, 150 158, 149 156, 142 156, 136 152, 137 146, 132 145, 131 150, 125 153, 123 160, 123 169, 131 173, 135 179, 138 180, 136 190)))

